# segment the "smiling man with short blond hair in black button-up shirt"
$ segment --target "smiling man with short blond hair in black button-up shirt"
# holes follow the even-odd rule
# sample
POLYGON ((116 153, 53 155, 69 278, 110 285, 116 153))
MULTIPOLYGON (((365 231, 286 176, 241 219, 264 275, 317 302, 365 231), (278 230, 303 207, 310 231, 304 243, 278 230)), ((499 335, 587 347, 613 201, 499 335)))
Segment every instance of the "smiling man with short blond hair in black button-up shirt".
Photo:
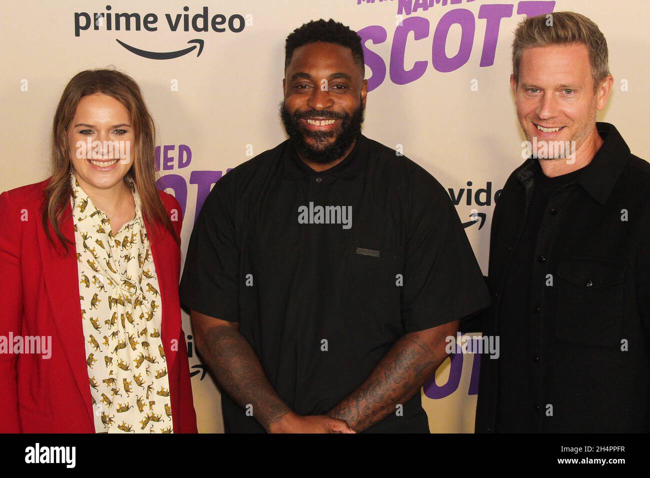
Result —
POLYGON ((477 432, 650 431, 650 165, 612 124, 608 49, 573 12, 526 18, 510 85, 528 159, 492 222, 477 432))

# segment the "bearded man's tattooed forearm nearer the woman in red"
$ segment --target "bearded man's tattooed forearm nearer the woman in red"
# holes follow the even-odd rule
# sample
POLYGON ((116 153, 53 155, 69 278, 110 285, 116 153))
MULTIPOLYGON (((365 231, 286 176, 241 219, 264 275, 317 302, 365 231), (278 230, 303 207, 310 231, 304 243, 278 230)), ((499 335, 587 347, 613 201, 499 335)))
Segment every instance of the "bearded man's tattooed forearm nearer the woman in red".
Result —
POLYGON ((205 329, 200 352, 220 386, 243 408, 252 405, 253 417, 267 432, 291 412, 268 382, 250 343, 236 328, 205 329))

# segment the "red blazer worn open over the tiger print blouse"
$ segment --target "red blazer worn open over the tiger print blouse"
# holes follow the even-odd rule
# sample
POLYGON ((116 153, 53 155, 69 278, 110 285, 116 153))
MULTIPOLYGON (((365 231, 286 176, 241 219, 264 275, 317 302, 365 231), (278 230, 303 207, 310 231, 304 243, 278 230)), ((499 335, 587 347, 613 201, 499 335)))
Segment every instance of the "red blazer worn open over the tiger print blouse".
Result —
MULTIPOLYGON (((0 353, 0 432, 94 433, 85 338, 81 325, 75 246, 64 256, 47 240, 41 220, 43 189, 49 179, 0 194, 0 336, 51 336, 51 357, 0 353)), ((178 219, 181 207, 159 191, 178 219)), ((68 204, 68 213, 72 207, 68 204)), ((174 433, 196 433, 185 333, 181 328, 178 282, 181 251, 172 235, 145 221, 162 306, 162 347, 167 369, 174 433), (162 234, 156 236, 154 229, 162 234), (177 351, 172 350, 177 339, 177 351)), ((75 241, 72 216, 61 232, 75 241)))

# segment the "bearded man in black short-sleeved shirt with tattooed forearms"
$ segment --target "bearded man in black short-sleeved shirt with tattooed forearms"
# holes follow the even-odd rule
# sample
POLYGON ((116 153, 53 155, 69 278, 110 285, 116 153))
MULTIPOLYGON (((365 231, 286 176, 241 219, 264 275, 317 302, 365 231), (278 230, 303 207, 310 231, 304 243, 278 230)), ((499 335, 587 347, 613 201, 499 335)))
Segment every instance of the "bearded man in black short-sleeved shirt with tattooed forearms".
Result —
POLYGON ((445 189, 361 134, 359 36, 289 35, 289 139, 216 183, 181 300, 227 432, 428 432, 422 384, 489 294, 445 189))

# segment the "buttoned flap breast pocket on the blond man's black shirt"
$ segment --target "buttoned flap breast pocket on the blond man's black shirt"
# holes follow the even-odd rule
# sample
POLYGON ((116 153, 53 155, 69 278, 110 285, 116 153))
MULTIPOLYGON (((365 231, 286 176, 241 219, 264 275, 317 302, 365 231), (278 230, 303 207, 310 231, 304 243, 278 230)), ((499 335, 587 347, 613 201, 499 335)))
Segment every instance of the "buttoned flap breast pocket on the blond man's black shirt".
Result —
POLYGON ((591 257, 564 258, 556 276, 556 336, 579 345, 620 347, 625 264, 591 257))

